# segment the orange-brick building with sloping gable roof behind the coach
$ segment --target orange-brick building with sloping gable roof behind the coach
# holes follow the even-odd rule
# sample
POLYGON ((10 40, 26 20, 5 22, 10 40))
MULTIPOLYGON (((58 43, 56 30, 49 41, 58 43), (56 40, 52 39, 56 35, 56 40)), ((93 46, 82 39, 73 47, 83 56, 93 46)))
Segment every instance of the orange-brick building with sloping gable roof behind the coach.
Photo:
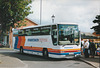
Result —
MULTIPOLYGON (((23 24, 26 24, 26 26, 21 26, 21 27, 16 27, 16 28, 11 28, 10 29, 10 32, 9 32, 9 46, 10 48, 13 48, 13 36, 16 36, 16 34, 13 35, 13 30, 15 30, 15 32, 18 30, 18 29, 23 29, 24 27, 28 27, 28 26, 35 26, 35 25, 38 25, 36 24, 35 22, 31 21, 30 19, 28 18, 25 18, 22 22, 19 21, 18 23, 23 23, 23 24)), ((15 24, 15 26, 17 26, 15 24)), ((17 33, 17 32, 16 32, 17 33)))

